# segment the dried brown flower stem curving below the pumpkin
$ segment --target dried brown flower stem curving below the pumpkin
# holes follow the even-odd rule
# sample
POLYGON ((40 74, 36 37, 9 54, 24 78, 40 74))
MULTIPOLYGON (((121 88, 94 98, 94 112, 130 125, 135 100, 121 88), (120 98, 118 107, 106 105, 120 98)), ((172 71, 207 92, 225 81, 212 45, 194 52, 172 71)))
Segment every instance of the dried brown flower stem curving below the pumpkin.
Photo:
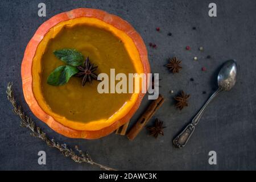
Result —
POLYGON ((79 148, 76 146, 75 150, 73 151, 72 148, 68 148, 67 145, 64 144, 59 144, 59 142, 55 142, 54 139, 49 139, 46 136, 46 133, 44 133, 40 127, 35 125, 35 122, 32 121, 32 119, 30 117, 28 117, 22 110, 22 107, 19 106, 15 100, 14 94, 13 94, 13 83, 9 82, 8 86, 7 86, 7 98, 8 100, 11 102, 11 105, 13 105, 13 111, 16 115, 19 115, 21 121, 20 121, 20 126, 21 127, 26 127, 27 129, 31 130, 31 136, 32 137, 36 137, 36 138, 40 138, 43 141, 46 142, 46 144, 49 147, 53 147, 53 148, 57 148, 61 154, 63 154, 66 157, 71 158, 73 161, 75 161, 76 163, 89 163, 95 166, 98 166, 102 169, 108 170, 108 171, 115 171, 115 169, 107 167, 107 166, 103 166, 101 164, 98 164, 96 162, 94 162, 89 154, 87 152, 82 152, 81 150, 79 150, 79 148))

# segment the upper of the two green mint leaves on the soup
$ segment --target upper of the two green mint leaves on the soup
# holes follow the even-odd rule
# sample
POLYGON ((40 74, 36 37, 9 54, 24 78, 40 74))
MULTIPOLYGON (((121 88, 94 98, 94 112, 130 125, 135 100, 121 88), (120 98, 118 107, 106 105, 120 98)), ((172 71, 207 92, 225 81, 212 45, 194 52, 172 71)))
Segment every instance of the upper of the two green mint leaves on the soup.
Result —
POLYGON ((61 61, 74 67, 82 65, 84 61, 84 56, 82 56, 81 52, 76 51, 76 49, 60 49, 53 51, 53 53, 61 61))

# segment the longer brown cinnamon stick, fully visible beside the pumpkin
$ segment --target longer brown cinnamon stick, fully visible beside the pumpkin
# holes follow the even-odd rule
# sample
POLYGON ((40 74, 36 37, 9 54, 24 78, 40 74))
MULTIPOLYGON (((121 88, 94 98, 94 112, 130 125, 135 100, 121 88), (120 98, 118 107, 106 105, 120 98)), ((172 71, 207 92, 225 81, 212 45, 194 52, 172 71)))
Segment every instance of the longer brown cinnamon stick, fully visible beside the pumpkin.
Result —
POLYGON ((128 132, 127 138, 129 138, 129 140, 133 140, 139 134, 139 132, 150 120, 152 115, 154 115, 155 112, 160 108, 160 106, 162 106, 163 102, 164 98, 161 94, 159 94, 159 97, 151 102, 151 104, 147 107, 147 109, 144 111, 144 113, 141 115, 135 125, 128 132))

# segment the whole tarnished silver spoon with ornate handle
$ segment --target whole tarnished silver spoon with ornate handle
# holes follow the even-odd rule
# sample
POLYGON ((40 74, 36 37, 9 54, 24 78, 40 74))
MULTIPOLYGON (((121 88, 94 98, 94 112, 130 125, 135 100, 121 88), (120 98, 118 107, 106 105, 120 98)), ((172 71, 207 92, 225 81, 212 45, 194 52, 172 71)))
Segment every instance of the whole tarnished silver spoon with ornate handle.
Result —
POLYGON ((191 137, 195 126, 199 122, 201 116, 203 115, 205 108, 212 101, 212 99, 217 96, 221 91, 229 91, 236 84, 237 76, 237 63, 235 60, 228 60, 222 65, 220 72, 218 73, 218 89, 210 96, 204 106, 192 119, 192 122, 188 124, 187 127, 174 139, 174 146, 177 148, 182 148, 188 142, 188 139, 191 137))

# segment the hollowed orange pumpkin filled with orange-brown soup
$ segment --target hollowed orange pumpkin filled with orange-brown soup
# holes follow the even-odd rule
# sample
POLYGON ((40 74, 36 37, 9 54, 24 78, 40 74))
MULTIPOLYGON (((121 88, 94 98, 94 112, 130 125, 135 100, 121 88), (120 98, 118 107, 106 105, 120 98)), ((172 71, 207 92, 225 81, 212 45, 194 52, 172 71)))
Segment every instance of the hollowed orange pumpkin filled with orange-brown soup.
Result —
POLYGON ((130 120, 143 93, 100 94, 98 82, 81 86, 72 77, 68 84, 52 86, 47 76, 63 64, 53 51, 75 48, 98 73, 149 73, 147 50, 141 36, 125 20, 105 11, 75 9, 44 22, 27 45, 22 61, 25 100, 31 111, 66 137, 104 137, 130 120))

